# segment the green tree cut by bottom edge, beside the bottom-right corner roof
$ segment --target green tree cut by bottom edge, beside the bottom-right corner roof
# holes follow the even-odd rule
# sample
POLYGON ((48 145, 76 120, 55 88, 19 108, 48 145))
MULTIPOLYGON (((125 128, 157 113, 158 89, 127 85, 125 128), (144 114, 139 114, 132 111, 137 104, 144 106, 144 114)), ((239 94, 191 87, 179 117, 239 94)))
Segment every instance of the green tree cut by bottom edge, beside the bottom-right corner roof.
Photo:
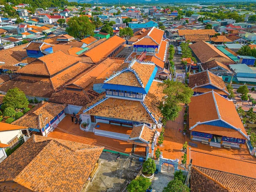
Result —
POLYGON ((184 185, 180 179, 174 179, 170 181, 166 187, 164 187, 163 192, 189 192, 188 186, 184 185))

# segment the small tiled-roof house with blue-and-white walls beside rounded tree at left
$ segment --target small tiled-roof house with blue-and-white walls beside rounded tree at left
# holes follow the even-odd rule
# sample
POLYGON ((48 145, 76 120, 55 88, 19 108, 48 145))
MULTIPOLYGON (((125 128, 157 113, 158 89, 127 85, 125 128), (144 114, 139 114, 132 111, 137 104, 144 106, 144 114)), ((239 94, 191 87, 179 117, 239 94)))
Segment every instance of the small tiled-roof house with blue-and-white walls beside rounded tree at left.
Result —
POLYGON ((30 132, 47 136, 65 117, 65 107, 67 107, 66 104, 42 101, 11 124, 27 126, 30 132))

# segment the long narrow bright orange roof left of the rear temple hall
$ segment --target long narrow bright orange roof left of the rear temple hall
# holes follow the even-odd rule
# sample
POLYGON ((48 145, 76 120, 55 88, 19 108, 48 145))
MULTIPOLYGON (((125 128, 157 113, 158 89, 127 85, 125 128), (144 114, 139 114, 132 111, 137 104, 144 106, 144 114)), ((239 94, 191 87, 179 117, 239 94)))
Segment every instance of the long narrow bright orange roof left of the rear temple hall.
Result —
POLYGON ((126 40, 120 38, 119 36, 112 36, 101 44, 89 49, 85 52, 85 56, 92 59, 94 63, 99 62, 103 57, 110 55, 117 47, 125 43, 126 40))

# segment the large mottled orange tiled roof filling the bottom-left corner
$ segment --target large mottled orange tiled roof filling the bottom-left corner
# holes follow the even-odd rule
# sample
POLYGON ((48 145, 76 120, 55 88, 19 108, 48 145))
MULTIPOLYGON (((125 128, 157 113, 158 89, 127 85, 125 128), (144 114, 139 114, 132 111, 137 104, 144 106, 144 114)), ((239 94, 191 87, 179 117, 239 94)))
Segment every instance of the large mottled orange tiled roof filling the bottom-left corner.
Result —
POLYGON ((0 191, 80 192, 103 148, 33 135, 0 164, 0 191))

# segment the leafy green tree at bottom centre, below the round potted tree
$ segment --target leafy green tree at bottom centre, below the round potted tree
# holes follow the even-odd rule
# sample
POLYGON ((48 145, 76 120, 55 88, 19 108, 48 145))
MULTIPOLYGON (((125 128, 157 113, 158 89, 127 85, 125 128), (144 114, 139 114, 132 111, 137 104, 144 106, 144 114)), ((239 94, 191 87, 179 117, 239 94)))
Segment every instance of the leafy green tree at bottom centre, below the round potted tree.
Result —
POLYGON ((139 176, 137 179, 133 179, 127 186, 128 192, 145 192, 151 185, 151 181, 148 178, 139 176))

